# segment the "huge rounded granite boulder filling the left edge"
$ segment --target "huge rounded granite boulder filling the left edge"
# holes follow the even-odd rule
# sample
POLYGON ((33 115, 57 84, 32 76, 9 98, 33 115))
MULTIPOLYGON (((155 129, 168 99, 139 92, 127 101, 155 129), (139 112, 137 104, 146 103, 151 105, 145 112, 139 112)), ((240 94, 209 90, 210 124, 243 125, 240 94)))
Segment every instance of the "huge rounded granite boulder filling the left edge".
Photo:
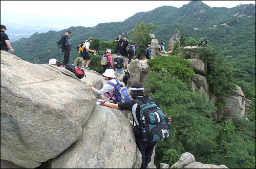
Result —
POLYGON ((95 102, 69 70, 1 50, 1 159, 34 168, 55 158, 82 134, 95 102))

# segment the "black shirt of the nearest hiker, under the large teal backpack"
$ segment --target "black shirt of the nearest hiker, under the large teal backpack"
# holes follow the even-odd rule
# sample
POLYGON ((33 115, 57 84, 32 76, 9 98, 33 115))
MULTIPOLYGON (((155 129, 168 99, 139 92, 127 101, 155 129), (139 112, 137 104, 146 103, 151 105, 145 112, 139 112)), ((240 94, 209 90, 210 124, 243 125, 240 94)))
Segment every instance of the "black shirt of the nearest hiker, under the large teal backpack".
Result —
MULTIPOLYGON (((139 100, 143 101, 144 103, 146 102, 146 96, 138 96, 138 97, 136 97, 136 99, 139 99, 139 100)), ((156 102, 155 99, 154 99, 154 101, 156 102)), ((156 102, 156 104, 158 105, 157 102, 156 102)), ((135 123, 137 125, 139 124, 139 120, 137 121, 137 119, 140 119, 140 106, 138 106, 138 104, 134 100, 127 101, 124 103, 118 103, 118 107, 120 108, 120 110, 132 111, 132 115, 133 115, 135 123), (136 118, 135 118, 135 115, 136 115, 136 118)))

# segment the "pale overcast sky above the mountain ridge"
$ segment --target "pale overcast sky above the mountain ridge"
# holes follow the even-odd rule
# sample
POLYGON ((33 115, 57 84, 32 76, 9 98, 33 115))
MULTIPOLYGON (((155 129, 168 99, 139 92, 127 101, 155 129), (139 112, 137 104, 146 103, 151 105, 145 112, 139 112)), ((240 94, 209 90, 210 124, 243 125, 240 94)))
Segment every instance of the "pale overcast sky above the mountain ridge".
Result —
MULTIPOLYGON (((210 7, 236 7, 255 1, 202 1, 210 7)), ((138 12, 161 6, 180 8, 189 1, 1 1, 4 22, 93 27, 99 23, 124 21, 138 12)))

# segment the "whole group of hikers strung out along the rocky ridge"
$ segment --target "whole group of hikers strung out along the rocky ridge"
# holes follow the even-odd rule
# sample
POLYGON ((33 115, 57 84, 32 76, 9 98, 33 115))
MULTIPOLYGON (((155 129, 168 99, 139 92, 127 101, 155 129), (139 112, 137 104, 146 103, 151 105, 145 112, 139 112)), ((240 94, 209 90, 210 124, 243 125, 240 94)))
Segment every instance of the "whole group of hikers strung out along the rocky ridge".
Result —
MULTIPOLYGON (((1 50, 8 51, 9 47, 13 52, 14 50, 11 48, 11 45, 8 42, 8 36, 4 34, 6 30, 6 27, 1 25, 1 50), (2 44, 2 34, 4 38, 3 42, 5 42, 5 44, 2 44), (2 46, 4 47, 2 48, 2 46)), ((66 35, 62 36, 59 43, 59 47, 64 53, 63 64, 56 59, 50 59, 49 64, 61 67, 63 69, 68 69, 75 73, 76 77, 81 79, 83 76, 86 77, 83 69, 76 65, 69 64, 71 50, 69 39, 70 34, 71 31, 67 30, 66 35)), ((206 40, 207 39, 205 38, 204 41, 201 41, 200 45, 206 45, 206 40)), ((143 84, 141 82, 133 82, 129 90, 121 85, 121 81, 123 81, 125 86, 127 86, 127 80, 130 77, 130 73, 127 71, 127 66, 125 65, 125 61, 121 55, 129 58, 128 64, 130 64, 131 59, 136 54, 136 43, 130 45, 129 41, 127 41, 127 37, 124 37, 123 40, 122 35, 119 35, 115 41, 117 42, 115 51, 117 57, 114 59, 114 61, 112 61, 111 50, 108 49, 102 56, 101 60, 101 65, 104 70, 102 75, 104 76, 105 80, 107 80, 106 84, 100 90, 95 89, 91 83, 88 85, 95 94, 103 95, 105 98, 105 101, 97 99, 97 103, 99 105, 120 110, 129 110, 132 112, 135 142, 142 155, 141 168, 146 168, 148 163, 151 162, 151 156, 156 143, 159 140, 165 140, 169 136, 168 132, 170 118, 165 116, 159 104, 153 97, 146 97, 143 84), (127 48, 130 48, 130 52, 129 50, 126 50, 127 48), (106 102, 106 100, 109 100, 109 102, 106 102)), ((83 58, 82 68, 88 70, 90 70, 88 66, 91 61, 89 51, 95 52, 95 50, 90 49, 90 43, 92 42, 93 38, 91 37, 77 47, 83 58)), ((164 43, 161 43, 157 47, 159 52, 165 52, 163 45, 164 43)), ((146 59, 151 59, 151 53, 151 45, 148 44, 145 50, 146 59)))

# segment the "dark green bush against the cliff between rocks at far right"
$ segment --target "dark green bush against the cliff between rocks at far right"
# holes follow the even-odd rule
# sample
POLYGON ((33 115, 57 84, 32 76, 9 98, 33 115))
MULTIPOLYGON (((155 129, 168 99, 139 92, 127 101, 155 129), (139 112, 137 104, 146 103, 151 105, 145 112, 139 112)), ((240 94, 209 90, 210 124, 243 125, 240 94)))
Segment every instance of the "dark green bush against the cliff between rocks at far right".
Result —
POLYGON ((234 73, 233 66, 224 57, 218 57, 210 65, 207 79, 210 83, 210 91, 216 95, 234 92, 234 73))

